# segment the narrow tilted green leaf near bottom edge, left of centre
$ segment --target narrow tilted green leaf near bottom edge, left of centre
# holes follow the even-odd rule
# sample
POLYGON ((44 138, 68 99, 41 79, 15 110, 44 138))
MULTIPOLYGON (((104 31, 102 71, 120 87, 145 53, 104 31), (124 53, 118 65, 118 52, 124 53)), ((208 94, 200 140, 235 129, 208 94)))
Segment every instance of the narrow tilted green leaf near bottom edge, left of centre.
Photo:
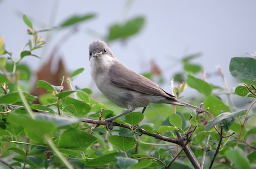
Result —
POLYGON ((120 153, 114 152, 107 155, 101 156, 99 158, 94 158, 86 163, 88 166, 105 166, 109 163, 114 163, 115 157, 120 156, 120 153))

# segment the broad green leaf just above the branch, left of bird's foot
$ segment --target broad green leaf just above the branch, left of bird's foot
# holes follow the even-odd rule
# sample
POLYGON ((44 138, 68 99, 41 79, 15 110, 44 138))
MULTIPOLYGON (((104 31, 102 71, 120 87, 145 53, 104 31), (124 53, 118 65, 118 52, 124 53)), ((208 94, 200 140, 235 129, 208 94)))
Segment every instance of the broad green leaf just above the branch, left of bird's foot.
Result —
POLYGON ((91 110, 91 105, 80 100, 67 97, 62 100, 63 111, 71 112, 78 117, 85 116, 91 110))

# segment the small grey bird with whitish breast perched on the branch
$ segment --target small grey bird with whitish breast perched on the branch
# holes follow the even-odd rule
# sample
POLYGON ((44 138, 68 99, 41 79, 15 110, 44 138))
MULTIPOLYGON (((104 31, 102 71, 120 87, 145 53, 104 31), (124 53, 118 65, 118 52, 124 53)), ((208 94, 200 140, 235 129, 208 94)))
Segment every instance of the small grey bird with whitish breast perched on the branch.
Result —
POLYGON ((127 109, 115 117, 105 119, 109 122, 109 129, 112 129, 112 121, 117 117, 132 112, 137 107, 144 107, 145 110, 150 103, 188 106, 201 112, 207 112, 178 100, 153 81, 127 68, 115 58, 107 44, 101 40, 94 40, 90 44, 89 54, 91 76, 97 88, 112 103, 127 109))

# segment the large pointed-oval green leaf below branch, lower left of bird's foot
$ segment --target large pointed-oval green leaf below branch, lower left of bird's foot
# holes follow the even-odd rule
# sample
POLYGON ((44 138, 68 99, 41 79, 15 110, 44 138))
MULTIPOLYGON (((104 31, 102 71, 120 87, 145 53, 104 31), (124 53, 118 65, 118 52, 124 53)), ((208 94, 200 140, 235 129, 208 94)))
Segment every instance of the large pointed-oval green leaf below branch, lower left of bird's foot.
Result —
POLYGON ((96 137, 85 131, 67 129, 61 134, 58 146, 85 151, 85 149, 95 141, 97 141, 96 137))

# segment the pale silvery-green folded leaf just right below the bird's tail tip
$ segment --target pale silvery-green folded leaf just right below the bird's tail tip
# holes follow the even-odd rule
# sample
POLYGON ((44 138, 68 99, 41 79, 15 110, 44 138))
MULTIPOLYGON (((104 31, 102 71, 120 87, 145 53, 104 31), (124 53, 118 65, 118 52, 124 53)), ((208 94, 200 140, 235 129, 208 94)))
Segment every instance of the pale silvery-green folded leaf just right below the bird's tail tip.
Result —
POLYGON ((235 112, 223 112, 220 115, 216 116, 213 120, 209 121, 208 124, 204 127, 206 131, 209 131, 213 126, 221 122, 222 120, 229 119, 232 117, 237 117, 245 112, 245 109, 235 111, 235 112))

